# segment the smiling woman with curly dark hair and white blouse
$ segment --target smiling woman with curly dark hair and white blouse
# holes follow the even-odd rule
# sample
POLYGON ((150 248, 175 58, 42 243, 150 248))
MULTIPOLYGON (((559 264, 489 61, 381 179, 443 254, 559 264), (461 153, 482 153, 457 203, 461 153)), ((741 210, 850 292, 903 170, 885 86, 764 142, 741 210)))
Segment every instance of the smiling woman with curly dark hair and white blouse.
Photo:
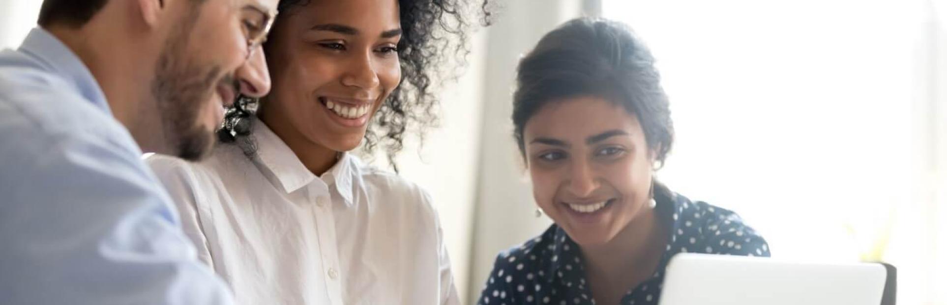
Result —
POLYGON ((148 159, 241 303, 459 302, 430 196, 349 151, 391 160, 406 130, 437 121, 432 91, 468 53, 473 8, 280 1, 263 44, 273 88, 227 110, 229 144, 198 163, 148 159))

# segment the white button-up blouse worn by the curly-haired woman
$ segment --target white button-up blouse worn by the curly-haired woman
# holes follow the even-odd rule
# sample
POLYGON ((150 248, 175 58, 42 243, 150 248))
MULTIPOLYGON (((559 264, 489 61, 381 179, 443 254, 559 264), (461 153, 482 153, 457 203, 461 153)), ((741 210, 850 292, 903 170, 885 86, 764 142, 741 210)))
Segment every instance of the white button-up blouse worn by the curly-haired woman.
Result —
POLYGON ((152 155, 200 259, 241 304, 458 304, 438 213, 351 154, 316 177, 259 120, 257 155, 152 155))

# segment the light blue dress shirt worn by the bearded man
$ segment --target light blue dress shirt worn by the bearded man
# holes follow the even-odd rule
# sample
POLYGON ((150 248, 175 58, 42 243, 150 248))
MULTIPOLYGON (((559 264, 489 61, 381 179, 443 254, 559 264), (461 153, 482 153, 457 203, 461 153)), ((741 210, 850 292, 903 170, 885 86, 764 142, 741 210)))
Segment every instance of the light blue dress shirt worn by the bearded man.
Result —
POLYGON ((0 304, 229 304, 96 79, 33 29, 0 52, 0 304))

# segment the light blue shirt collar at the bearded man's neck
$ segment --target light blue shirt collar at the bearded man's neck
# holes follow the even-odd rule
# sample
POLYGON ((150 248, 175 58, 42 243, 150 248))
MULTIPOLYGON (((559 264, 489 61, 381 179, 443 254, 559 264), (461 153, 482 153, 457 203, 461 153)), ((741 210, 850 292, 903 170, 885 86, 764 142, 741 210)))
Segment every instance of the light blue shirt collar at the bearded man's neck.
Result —
POLYGON ((102 93, 89 68, 51 33, 42 27, 33 28, 18 50, 39 61, 47 71, 65 77, 82 97, 91 101, 98 109, 112 114, 105 93, 102 93))

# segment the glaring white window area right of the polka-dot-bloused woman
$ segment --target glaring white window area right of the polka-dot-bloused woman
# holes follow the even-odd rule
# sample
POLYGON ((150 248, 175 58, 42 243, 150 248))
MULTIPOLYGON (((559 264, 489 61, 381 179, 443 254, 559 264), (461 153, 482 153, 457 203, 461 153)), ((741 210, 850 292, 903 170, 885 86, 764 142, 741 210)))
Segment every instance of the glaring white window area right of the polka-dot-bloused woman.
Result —
MULTIPOLYGON (((775 257, 885 261, 947 304, 947 40, 924 0, 604 0, 652 47, 677 139, 658 173, 775 257)), ((944 20, 944 19, 941 19, 944 20)))

